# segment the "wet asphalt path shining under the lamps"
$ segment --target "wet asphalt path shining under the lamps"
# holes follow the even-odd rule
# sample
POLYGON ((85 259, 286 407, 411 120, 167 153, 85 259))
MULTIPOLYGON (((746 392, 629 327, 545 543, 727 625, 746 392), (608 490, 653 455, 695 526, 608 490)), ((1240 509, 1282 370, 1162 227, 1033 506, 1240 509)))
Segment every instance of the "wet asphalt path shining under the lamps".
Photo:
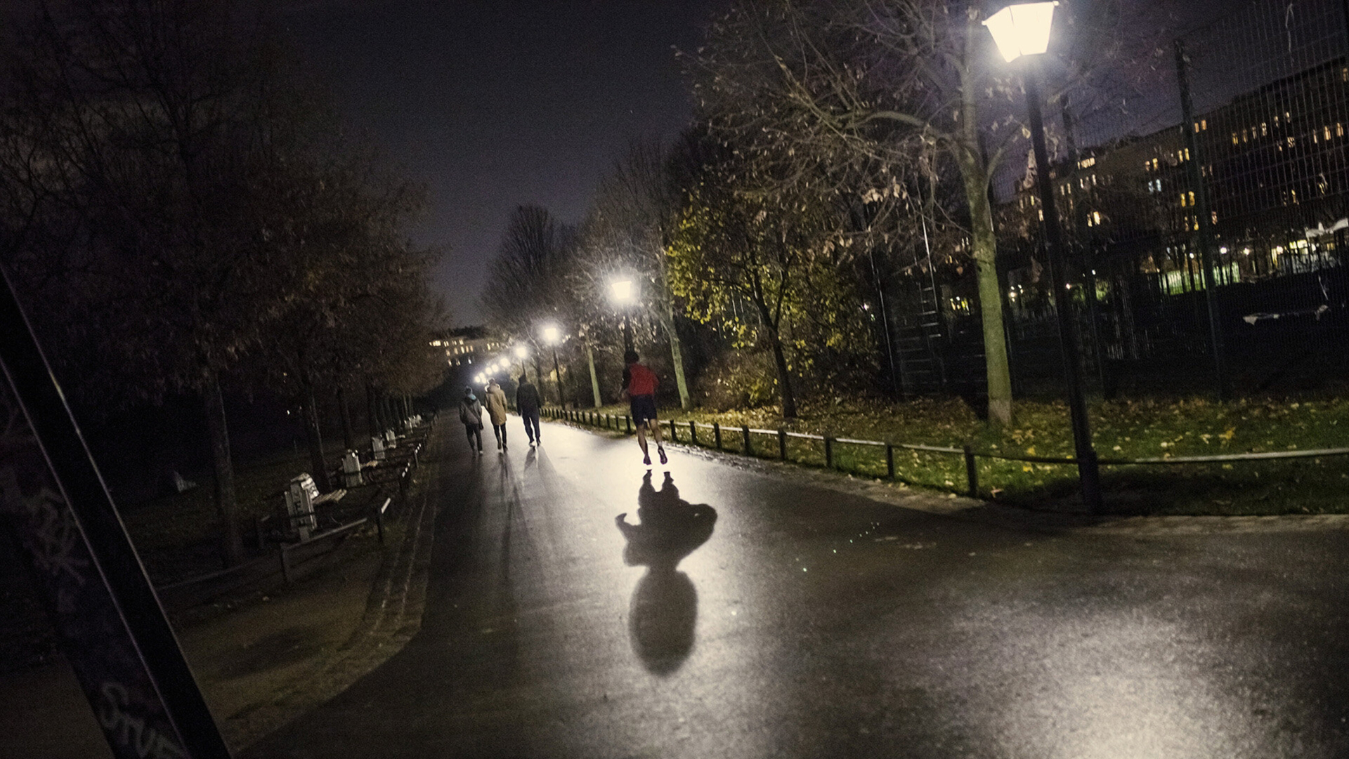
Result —
POLYGON ((420 635, 248 756, 1349 756, 1346 531, 1020 533, 510 434, 452 438, 420 635))

